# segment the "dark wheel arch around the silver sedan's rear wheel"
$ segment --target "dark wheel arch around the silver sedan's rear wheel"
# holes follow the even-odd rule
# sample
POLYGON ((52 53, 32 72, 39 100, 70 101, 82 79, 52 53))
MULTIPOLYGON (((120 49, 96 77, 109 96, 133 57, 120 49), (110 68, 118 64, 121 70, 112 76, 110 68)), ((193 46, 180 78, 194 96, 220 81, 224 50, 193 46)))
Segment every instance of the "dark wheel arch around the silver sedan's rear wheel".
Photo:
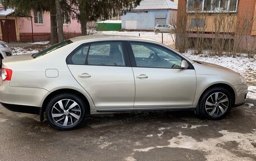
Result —
POLYGON ((46 105, 47 105, 48 101, 54 95, 57 95, 57 94, 60 94, 60 93, 72 93, 72 94, 79 95, 85 102, 85 107, 86 107, 87 114, 90 114, 90 103, 89 103, 88 98, 86 98, 86 96, 84 94, 82 94, 80 91, 77 91, 77 90, 74 90, 74 89, 64 88, 64 89, 54 90, 45 97, 45 99, 43 101, 43 104, 42 104, 42 108, 40 109, 40 121, 43 121, 43 119, 44 119, 44 112, 45 112, 46 105))

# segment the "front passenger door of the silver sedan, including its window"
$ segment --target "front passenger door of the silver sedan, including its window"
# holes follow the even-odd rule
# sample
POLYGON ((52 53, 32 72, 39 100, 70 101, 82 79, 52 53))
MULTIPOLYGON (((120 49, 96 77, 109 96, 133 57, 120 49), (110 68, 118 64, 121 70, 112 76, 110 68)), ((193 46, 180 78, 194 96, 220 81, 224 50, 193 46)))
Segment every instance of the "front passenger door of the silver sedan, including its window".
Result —
POLYGON ((134 108, 191 107, 196 76, 180 69, 182 57, 159 45, 131 42, 135 77, 134 108))

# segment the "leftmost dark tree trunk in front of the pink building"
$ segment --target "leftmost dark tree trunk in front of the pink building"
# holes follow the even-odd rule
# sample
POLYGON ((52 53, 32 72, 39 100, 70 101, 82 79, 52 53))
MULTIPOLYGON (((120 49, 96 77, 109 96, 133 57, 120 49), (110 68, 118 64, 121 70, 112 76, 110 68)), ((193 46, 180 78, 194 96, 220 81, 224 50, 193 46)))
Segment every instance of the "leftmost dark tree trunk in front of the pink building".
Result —
POLYGON ((57 21, 56 21, 56 4, 54 1, 50 6, 50 14, 51 14, 51 44, 58 43, 58 31, 57 31, 57 21))

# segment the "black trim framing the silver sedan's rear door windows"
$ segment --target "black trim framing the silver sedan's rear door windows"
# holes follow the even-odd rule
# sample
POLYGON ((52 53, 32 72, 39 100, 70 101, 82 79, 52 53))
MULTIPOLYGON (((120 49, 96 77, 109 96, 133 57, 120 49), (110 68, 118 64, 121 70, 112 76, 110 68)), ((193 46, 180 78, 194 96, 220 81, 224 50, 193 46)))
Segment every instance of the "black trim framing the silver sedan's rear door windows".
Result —
POLYGON ((86 59, 85 59, 85 63, 84 65, 77 65, 77 66, 102 66, 102 67, 131 67, 131 62, 130 62, 130 58, 129 58, 129 53, 125 44, 126 41, 124 40, 104 40, 104 41, 98 41, 98 42, 89 42, 89 43, 83 43, 81 45, 79 45, 77 48, 75 48, 66 58, 66 63, 67 65, 76 65, 74 63, 72 63, 70 61, 71 57, 76 53, 77 50, 81 49, 84 47, 84 45, 89 45, 88 48, 88 53, 86 55, 86 59), (98 43, 121 43, 122 44, 122 49, 123 49, 123 55, 124 55, 124 59, 125 59, 125 66, 111 66, 111 65, 88 65, 88 55, 90 52, 90 46, 92 44, 98 44, 98 43))

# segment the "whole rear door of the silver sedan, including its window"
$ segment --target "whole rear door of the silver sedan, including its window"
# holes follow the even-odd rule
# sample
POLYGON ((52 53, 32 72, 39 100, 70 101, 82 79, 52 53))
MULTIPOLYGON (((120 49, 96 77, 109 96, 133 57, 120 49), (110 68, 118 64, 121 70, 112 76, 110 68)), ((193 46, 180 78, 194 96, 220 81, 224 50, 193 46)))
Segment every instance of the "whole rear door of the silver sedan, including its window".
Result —
POLYGON ((134 75, 124 43, 82 45, 68 57, 68 68, 96 108, 133 108, 134 75))

